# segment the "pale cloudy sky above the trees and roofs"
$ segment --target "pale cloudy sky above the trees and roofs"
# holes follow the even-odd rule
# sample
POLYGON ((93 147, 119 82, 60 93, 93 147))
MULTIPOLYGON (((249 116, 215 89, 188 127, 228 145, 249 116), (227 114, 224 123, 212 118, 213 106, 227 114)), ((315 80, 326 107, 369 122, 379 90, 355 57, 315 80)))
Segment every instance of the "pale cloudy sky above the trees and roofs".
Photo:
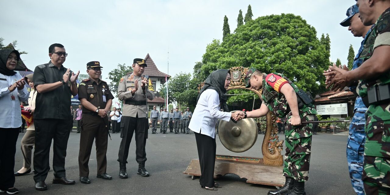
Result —
POLYGON ((318 37, 328 33, 333 61, 346 63, 349 44, 356 52, 363 40, 339 25, 355 0, 0 0, 0 37, 7 44, 18 41, 17 48, 28 52, 21 58, 32 70, 50 60, 50 44, 61 43, 69 54, 64 66, 83 74, 87 62, 96 60, 106 78, 118 63, 130 65, 147 53, 168 73, 169 51, 174 76, 192 73, 206 45, 222 39, 223 17, 233 32, 239 9, 245 16, 249 4, 254 19, 293 13, 314 26, 318 37))

